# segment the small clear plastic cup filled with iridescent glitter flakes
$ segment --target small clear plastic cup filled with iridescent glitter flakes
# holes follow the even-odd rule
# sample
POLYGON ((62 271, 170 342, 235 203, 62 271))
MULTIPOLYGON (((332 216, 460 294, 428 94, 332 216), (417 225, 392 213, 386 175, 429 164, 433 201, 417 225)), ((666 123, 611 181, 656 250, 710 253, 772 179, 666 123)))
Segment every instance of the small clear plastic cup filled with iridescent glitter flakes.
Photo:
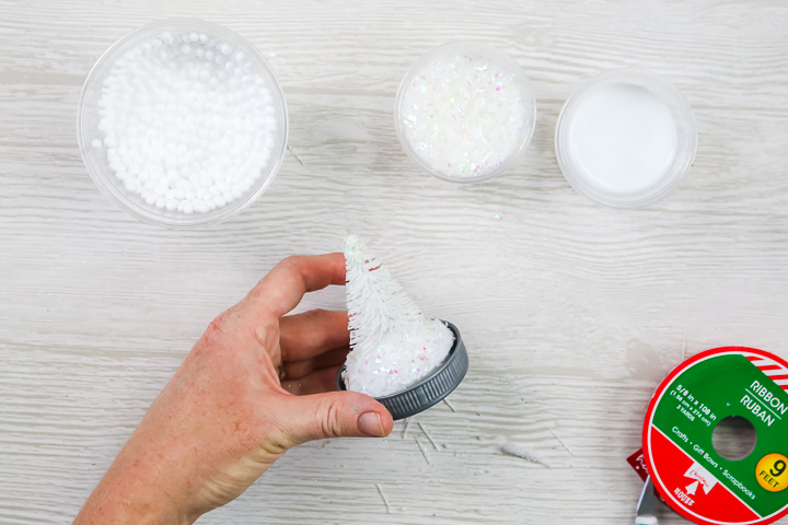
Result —
POLYGON ((480 183, 500 175, 531 141, 536 101, 511 57, 455 42, 419 58, 397 91, 405 152, 438 178, 480 183))

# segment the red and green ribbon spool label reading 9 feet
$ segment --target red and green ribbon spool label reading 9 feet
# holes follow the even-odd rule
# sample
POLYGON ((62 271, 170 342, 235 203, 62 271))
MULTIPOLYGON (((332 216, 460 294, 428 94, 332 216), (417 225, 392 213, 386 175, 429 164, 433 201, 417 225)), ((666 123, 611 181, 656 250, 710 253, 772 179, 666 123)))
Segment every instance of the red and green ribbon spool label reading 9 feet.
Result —
POLYGON ((715 348, 680 364, 657 388, 644 423, 654 487, 698 524, 768 524, 788 515, 788 362, 763 350, 715 348), (717 424, 745 418, 757 441, 722 457, 717 424))

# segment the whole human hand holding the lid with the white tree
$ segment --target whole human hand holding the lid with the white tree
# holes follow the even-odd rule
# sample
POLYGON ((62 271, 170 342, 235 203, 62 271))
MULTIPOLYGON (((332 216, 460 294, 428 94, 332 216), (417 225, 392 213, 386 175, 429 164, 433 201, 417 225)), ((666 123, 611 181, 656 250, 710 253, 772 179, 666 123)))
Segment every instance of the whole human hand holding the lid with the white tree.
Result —
POLYGON ((328 284, 345 284, 341 254, 289 257, 213 319, 74 524, 194 523, 298 444, 387 435, 381 404, 331 392, 348 352, 347 312, 283 317, 328 284))

